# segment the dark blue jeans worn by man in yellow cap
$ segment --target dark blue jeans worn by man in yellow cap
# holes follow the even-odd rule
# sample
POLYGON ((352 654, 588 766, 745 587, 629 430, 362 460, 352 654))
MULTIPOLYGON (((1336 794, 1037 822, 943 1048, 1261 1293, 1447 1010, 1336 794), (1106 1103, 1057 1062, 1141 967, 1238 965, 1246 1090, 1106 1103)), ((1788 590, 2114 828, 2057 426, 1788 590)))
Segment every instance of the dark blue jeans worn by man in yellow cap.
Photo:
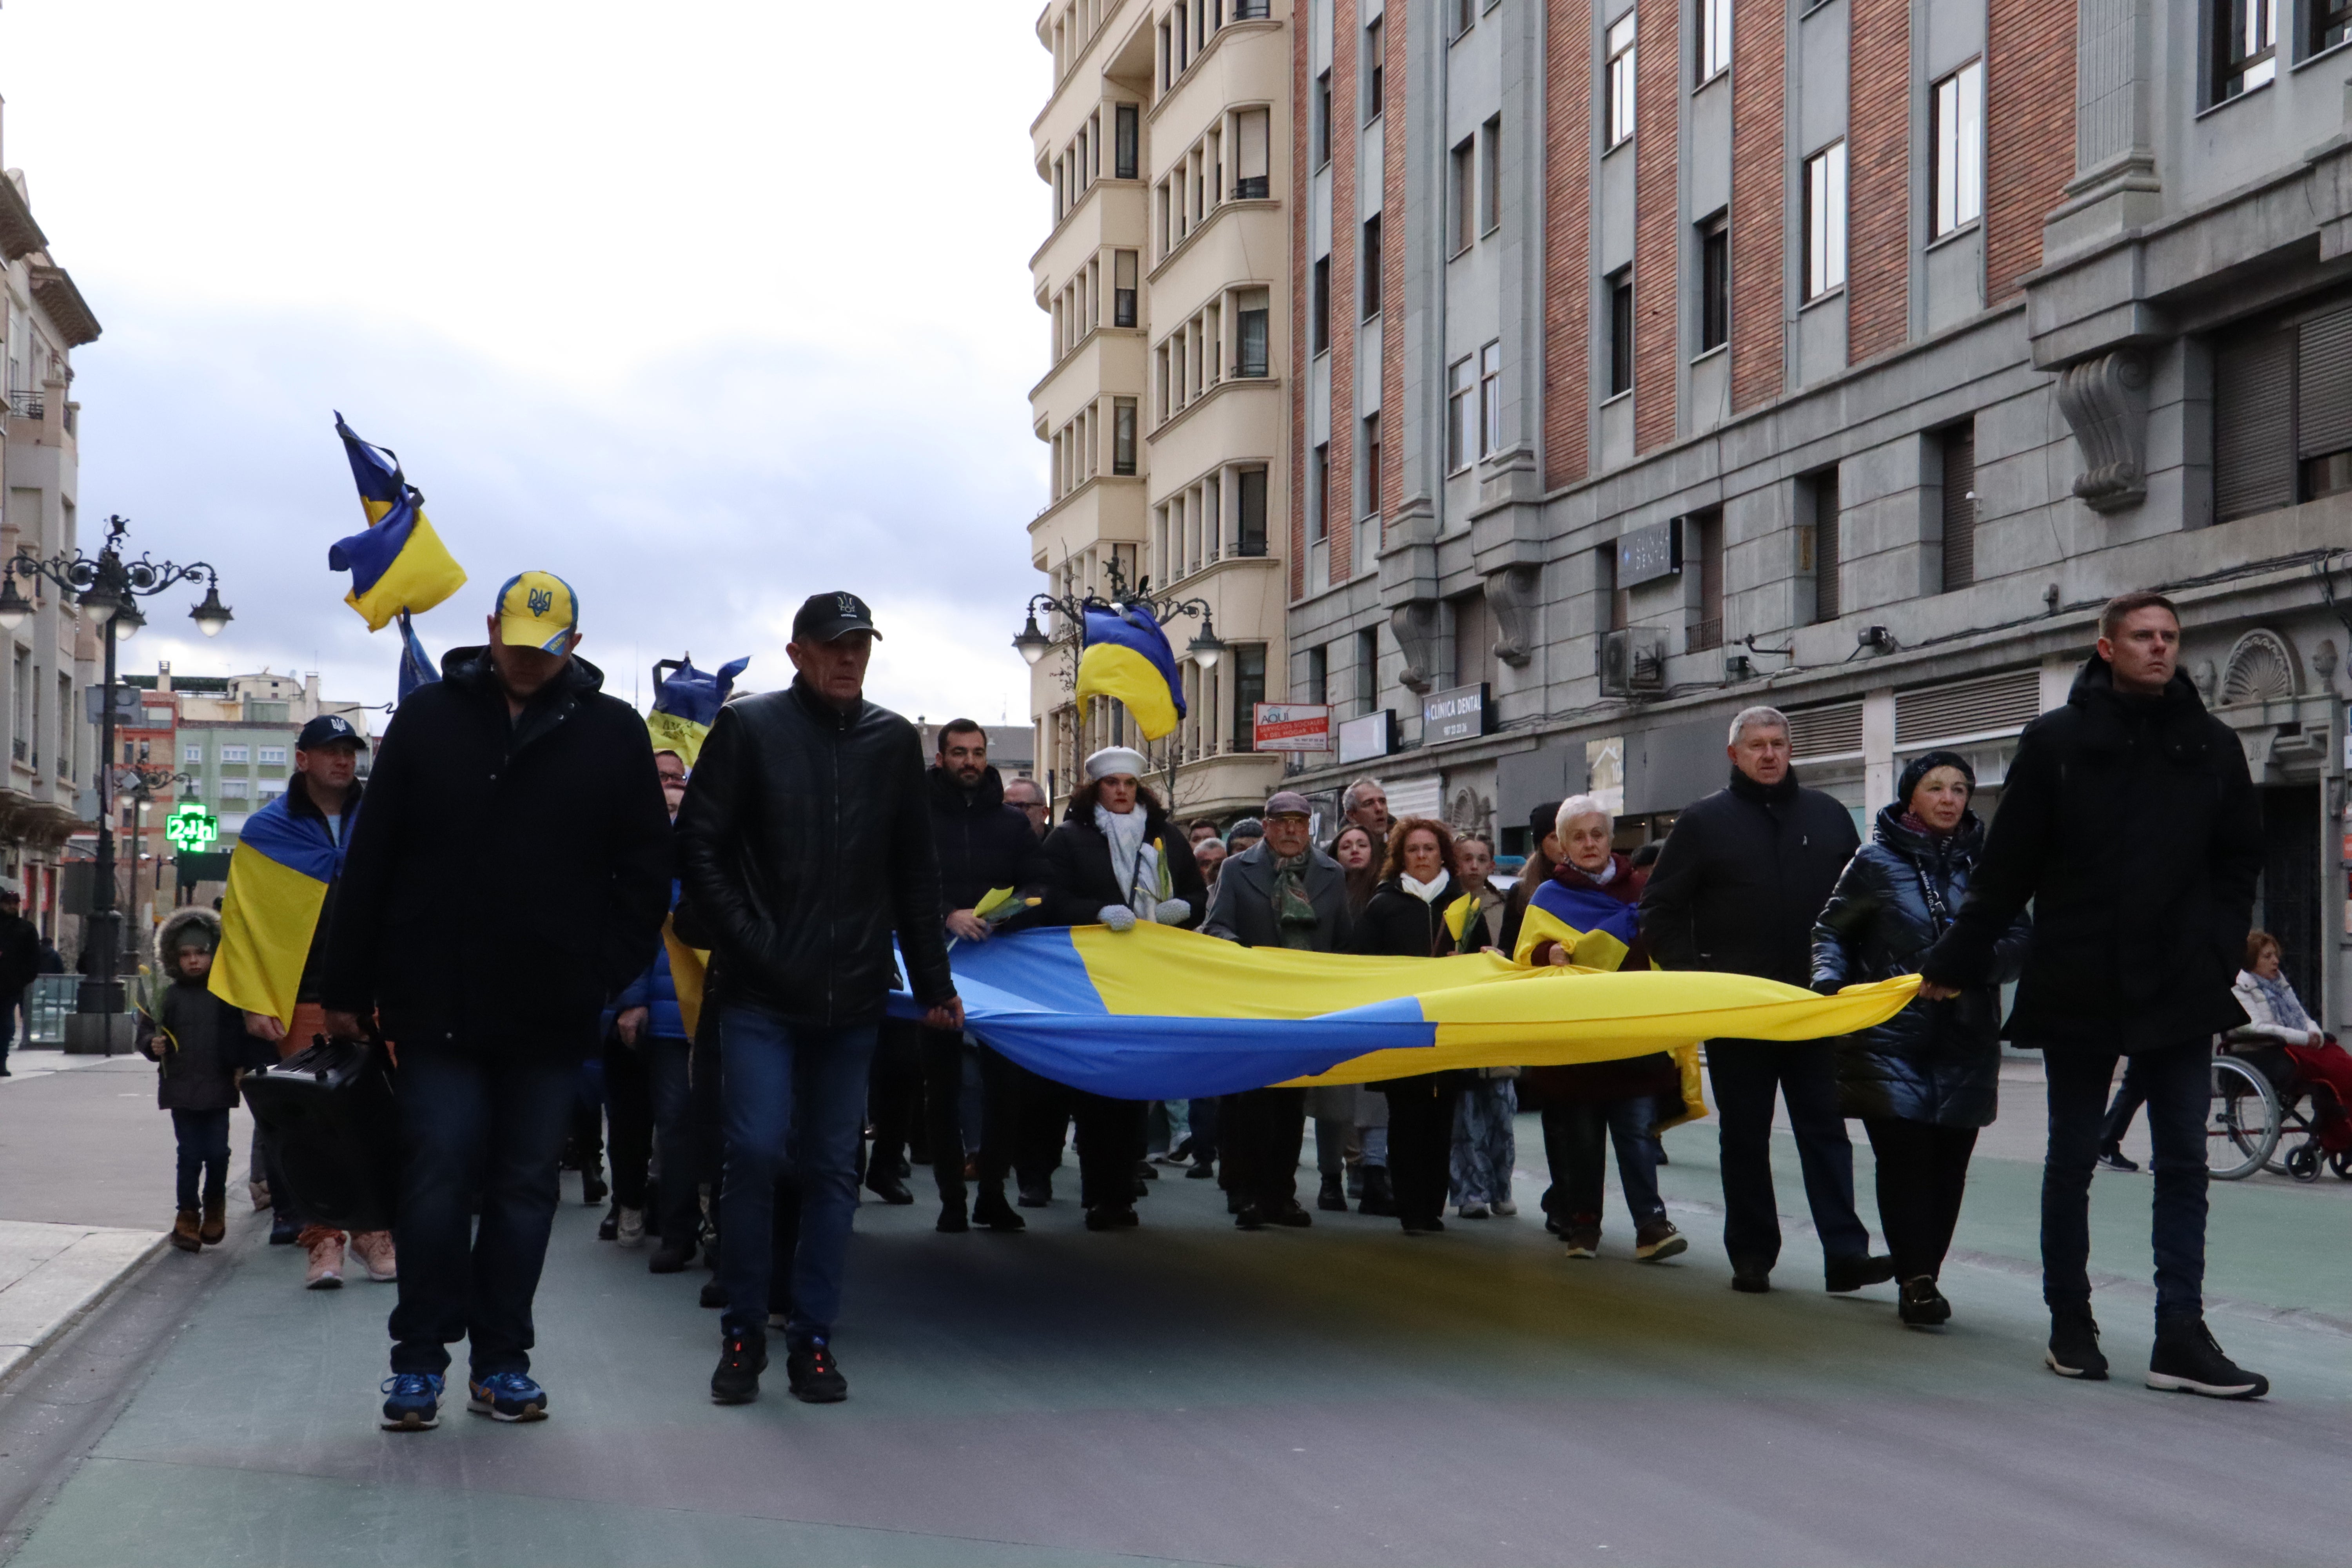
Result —
POLYGON ((445 1373, 449 1345, 468 1340, 475 1378, 527 1373, 579 1065, 409 1048, 393 1084, 402 1145, 393 1371, 445 1373))

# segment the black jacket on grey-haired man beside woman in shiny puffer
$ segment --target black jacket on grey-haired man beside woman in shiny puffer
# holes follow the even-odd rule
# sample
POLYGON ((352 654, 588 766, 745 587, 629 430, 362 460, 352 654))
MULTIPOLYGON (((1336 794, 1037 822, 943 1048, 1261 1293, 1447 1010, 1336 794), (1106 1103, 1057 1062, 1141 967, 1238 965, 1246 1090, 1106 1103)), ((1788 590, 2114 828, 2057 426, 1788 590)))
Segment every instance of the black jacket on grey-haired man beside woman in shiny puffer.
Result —
POLYGON ((1860 846, 1835 797, 1795 769, 1759 785, 1738 769, 1679 818, 1642 891, 1642 936, 1661 969, 1710 969, 1804 985, 1813 917, 1860 846))

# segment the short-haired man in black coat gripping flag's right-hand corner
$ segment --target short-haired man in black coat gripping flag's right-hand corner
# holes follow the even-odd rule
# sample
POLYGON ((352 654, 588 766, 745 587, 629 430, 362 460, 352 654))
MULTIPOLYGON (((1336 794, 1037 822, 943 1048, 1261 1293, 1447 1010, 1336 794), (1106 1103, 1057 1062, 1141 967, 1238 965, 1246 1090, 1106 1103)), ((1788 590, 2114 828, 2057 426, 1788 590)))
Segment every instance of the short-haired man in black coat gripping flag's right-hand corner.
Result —
POLYGON ((2178 658, 2180 616, 2161 595, 2100 611, 2098 651, 2065 708, 2025 726, 1969 898, 1919 973, 1931 999, 1983 983, 2032 900, 2009 1037, 2039 1046, 2049 1074, 2049 1368, 2107 1375, 2091 1316, 2091 1166, 2114 1060, 2129 1056, 2154 1143, 2147 1385, 2253 1399, 2270 1385, 2204 1326, 2204 1222, 2213 1037, 2246 1020, 2230 987, 2253 926, 2263 809, 2237 733, 2204 710, 2178 658))

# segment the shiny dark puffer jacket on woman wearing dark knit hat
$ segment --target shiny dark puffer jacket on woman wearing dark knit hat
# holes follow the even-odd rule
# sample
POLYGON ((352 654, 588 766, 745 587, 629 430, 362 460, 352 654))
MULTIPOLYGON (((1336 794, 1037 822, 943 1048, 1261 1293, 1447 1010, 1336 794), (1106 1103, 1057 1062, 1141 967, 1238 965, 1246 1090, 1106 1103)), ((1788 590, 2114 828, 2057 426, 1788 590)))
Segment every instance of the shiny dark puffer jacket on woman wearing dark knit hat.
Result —
MULTIPOLYGON (((1813 990, 1889 980, 1919 969, 1969 896, 1969 872, 1985 849, 1971 811, 1959 832, 1936 839, 1903 825, 1886 806, 1870 844, 1846 863, 1813 926, 1813 990), (1943 917, 1929 905, 1929 886, 1943 917)), ((1950 1001, 1912 1001, 1875 1030, 1839 1041, 1837 1093, 1849 1117, 1903 1117, 1936 1126, 1990 1126, 1999 1110, 2002 994, 2025 961, 2032 924, 2020 914, 1994 947, 1990 983, 1950 1001)))

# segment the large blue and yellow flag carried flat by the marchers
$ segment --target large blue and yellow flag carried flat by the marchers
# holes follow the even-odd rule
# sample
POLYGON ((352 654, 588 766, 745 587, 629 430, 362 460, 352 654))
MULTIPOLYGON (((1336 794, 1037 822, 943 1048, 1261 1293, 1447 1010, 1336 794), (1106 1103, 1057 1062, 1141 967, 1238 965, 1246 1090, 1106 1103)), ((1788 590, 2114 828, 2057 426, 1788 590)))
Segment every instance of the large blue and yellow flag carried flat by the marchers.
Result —
MULTIPOLYGON (((1174 926, 1014 931, 948 959, 967 1027, 1033 1072, 1122 1100, 1550 1067, 1703 1039, 1820 1039, 1903 1011, 1917 976, 1816 997, 1752 976, 1526 969, 1240 947, 1174 926)), ((906 992, 891 1013, 917 1018, 906 992)))

